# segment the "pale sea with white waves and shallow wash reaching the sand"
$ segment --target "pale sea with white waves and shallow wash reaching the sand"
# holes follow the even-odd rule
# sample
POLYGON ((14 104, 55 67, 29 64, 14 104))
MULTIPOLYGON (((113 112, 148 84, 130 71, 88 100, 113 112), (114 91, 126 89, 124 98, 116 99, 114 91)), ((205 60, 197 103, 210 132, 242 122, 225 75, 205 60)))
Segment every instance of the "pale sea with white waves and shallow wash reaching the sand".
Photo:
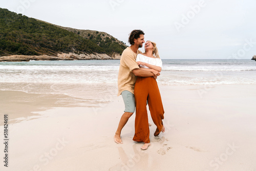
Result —
MULTIPOLYGON (((159 85, 256 84, 250 59, 162 59, 159 85)), ((120 60, 0 62, 0 90, 67 94, 93 99, 117 93, 120 60)))

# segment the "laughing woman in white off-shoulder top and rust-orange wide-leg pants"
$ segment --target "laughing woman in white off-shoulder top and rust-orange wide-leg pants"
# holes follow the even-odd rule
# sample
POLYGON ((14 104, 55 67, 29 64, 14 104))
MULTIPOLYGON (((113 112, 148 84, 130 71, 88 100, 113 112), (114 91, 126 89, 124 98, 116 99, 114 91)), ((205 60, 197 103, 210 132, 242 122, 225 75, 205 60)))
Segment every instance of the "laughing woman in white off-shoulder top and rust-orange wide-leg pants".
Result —
MULTIPOLYGON (((159 57, 155 42, 146 41, 145 53, 138 54, 136 61, 141 69, 150 68, 161 72, 162 61, 159 57)), ((147 149, 150 145, 150 129, 148 127, 146 102, 148 102, 152 120, 157 126, 154 136, 158 136, 161 131, 164 132, 162 122, 162 119, 164 118, 164 110, 156 77, 137 77, 134 88, 134 97, 136 101, 136 117, 135 135, 133 140, 144 142, 141 149, 147 149)))

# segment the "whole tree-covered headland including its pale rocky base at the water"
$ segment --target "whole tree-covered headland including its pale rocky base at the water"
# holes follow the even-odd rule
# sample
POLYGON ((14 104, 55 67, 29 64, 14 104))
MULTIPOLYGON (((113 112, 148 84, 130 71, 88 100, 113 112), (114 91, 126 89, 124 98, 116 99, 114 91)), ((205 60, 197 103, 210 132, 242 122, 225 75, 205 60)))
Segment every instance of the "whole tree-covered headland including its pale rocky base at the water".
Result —
POLYGON ((127 47, 105 32, 56 26, 0 8, 0 61, 120 59, 127 47))

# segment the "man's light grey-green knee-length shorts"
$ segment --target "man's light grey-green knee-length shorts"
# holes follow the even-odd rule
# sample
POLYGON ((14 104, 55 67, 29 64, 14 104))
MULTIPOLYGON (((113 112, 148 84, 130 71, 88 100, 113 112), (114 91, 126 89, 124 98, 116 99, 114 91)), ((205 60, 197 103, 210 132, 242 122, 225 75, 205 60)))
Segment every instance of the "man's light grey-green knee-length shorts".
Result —
POLYGON ((124 112, 134 113, 134 111, 135 111, 134 94, 127 90, 124 90, 124 91, 122 91, 121 95, 123 97, 123 102, 125 105, 124 112))

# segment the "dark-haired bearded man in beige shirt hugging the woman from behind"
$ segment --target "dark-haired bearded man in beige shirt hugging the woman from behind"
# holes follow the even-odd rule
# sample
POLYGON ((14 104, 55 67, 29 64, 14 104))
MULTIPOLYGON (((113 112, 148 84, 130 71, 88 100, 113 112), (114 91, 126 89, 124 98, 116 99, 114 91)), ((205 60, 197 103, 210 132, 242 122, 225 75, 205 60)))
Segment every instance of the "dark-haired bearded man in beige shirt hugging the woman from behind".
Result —
POLYGON ((140 69, 136 62, 137 54, 141 53, 138 49, 142 48, 144 42, 144 32, 142 30, 133 30, 129 36, 131 46, 123 51, 120 59, 118 96, 122 95, 125 109, 114 136, 114 141, 118 144, 122 143, 120 135, 123 126, 135 111, 134 84, 136 82, 136 76, 151 77, 160 75, 158 71, 153 69, 140 69))

